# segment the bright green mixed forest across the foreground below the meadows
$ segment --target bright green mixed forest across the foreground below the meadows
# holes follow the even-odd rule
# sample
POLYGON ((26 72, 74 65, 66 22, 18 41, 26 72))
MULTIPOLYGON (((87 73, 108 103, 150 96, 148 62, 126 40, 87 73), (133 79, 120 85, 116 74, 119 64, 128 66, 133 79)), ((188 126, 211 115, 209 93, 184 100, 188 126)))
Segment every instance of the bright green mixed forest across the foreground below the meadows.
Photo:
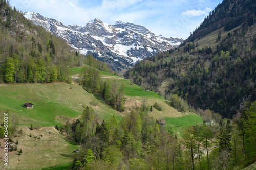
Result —
POLYGON ((187 127, 182 134, 148 116, 146 100, 119 123, 115 116, 100 122, 87 106, 59 130, 82 145, 72 169, 242 169, 256 156, 255 106, 249 102, 232 120, 187 127))

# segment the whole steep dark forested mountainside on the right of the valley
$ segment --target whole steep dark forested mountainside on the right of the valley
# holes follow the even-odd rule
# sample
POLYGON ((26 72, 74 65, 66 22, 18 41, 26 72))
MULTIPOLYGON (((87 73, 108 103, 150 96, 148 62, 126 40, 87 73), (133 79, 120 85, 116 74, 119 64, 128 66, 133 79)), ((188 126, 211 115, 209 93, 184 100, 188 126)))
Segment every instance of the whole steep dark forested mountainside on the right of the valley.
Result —
POLYGON ((256 99, 255 7, 255 1, 223 1, 214 13, 219 19, 208 16, 177 51, 141 61, 125 77, 166 98, 175 93, 195 108, 231 117, 244 101, 256 99), (236 17, 229 17, 225 7, 232 7, 236 17), (246 12, 239 12, 242 9, 246 12), (227 29, 236 18, 239 22, 227 29), (205 23, 211 24, 206 27, 205 23), (222 27, 212 31, 210 26, 216 24, 222 27))

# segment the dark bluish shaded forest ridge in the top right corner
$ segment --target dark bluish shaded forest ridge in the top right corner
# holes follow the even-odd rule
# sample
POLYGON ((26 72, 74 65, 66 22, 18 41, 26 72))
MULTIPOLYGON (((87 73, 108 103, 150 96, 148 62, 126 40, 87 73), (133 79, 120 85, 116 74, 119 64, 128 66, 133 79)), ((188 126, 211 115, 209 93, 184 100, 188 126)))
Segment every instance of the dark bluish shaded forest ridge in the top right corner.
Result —
POLYGON ((195 31, 181 44, 194 41, 224 27, 225 31, 247 22, 248 26, 256 23, 256 2, 254 0, 224 0, 204 19, 195 31))

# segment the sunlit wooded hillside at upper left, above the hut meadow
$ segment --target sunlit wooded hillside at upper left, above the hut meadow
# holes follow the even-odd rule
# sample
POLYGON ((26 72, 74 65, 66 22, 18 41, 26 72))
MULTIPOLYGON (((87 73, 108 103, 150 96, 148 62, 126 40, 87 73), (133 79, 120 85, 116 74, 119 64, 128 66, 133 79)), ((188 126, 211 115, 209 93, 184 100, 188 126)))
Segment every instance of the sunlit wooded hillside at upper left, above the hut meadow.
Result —
MULTIPOLYGON (((70 83, 67 68, 85 62, 66 42, 34 25, 3 0, 0 30, 0 83, 70 83)), ((106 68, 103 62, 91 62, 100 70, 106 68)))

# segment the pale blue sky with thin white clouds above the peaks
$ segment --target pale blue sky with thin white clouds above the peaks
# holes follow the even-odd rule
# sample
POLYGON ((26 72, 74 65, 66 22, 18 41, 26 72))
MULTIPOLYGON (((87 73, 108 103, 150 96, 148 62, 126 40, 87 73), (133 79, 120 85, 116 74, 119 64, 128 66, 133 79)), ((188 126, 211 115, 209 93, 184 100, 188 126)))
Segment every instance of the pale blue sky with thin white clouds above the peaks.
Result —
POLYGON ((156 35, 186 39, 222 0, 10 0, 16 9, 54 18, 64 25, 85 25, 94 18, 145 26, 156 35))

